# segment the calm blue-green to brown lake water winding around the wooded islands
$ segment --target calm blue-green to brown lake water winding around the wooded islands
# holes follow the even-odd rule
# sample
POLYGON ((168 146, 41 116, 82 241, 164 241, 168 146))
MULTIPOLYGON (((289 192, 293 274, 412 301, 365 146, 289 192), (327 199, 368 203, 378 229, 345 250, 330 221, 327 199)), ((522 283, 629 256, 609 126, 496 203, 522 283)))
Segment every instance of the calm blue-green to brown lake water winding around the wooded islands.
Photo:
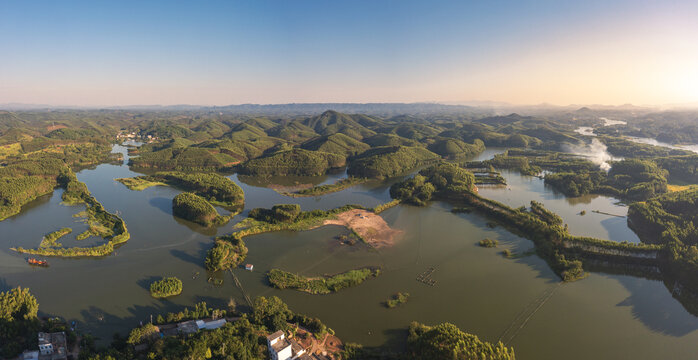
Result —
MULTIPOLYGON (((115 146, 125 153, 125 148, 115 146)), ((502 150, 488 149, 478 160, 502 150)), ((171 200, 179 192, 170 187, 130 191, 114 178, 139 175, 125 165, 102 164, 82 170, 78 178, 109 211, 119 211, 131 239, 102 259, 49 259, 51 267, 32 268, 10 247, 35 247, 41 237, 60 227, 74 232, 62 239, 72 244, 84 226, 74 223, 81 207, 60 204, 60 191, 27 205, 21 214, 0 222, 0 289, 29 287, 42 315, 76 320, 78 329, 111 339, 114 331, 147 321, 151 314, 179 311, 198 301, 224 306, 229 298, 245 304, 229 274, 207 274, 205 252, 215 235, 255 207, 299 203, 304 210, 331 209, 348 203, 375 206, 390 200, 393 179, 371 182, 334 194, 288 198, 263 187, 262 181, 230 178, 245 191, 245 211, 218 229, 205 229, 172 216, 171 200), (150 297, 153 278, 178 276, 182 295, 167 300, 150 297), (216 286, 210 276, 224 279, 216 286)), ((328 183, 342 173, 286 180, 291 184, 328 183)), ((637 242, 627 228, 627 207, 604 196, 566 198, 539 178, 504 172, 506 187, 482 187, 483 196, 512 206, 540 201, 560 214, 570 231, 614 241, 637 242), (586 210, 586 215, 578 215, 586 210), (598 210, 619 216, 594 213, 598 210)), ((275 181, 271 179, 271 181, 275 181)), ((287 184, 288 185, 288 184, 287 184)), ((410 321, 451 322, 488 341, 514 346, 521 359, 692 359, 698 350, 698 319, 671 297, 657 280, 592 273, 588 278, 559 284, 547 264, 535 255, 506 259, 499 252, 523 254, 532 243, 500 227, 490 228, 477 214, 453 214, 451 205, 435 202, 426 208, 398 206, 381 214, 388 224, 405 232, 391 248, 380 251, 364 245, 339 245, 333 238, 347 230, 327 226, 305 232, 268 233, 246 238, 246 262, 253 272, 235 270, 250 297, 276 295, 298 312, 321 318, 348 342, 369 346, 402 346, 410 321), (497 239, 499 249, 477 242, 497 239), (306 275, 336 273, 377 265, 383 273, 360 286, 331 295, 276 290, 265 272, 281 268, 306 275), (434 267, 435 286, 416 281, 434 267), (395 292, 409 292, 407 304, 396 309, 382 305, 395 292)), ((90 241, 90 240, 86 240, 90 241)))

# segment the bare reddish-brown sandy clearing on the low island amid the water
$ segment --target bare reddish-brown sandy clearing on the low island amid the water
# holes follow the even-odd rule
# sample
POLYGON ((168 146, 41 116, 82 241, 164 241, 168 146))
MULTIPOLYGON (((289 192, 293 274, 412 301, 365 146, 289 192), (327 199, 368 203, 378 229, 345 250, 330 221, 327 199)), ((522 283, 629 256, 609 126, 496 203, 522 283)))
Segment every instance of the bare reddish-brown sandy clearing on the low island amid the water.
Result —
POLYGON ((323 225, 341 225, 354 230, 374 248, 392 246, 403 233, 392 229, 379 215, 361 209, 345 211, 336 219, 325 220, 323 225))

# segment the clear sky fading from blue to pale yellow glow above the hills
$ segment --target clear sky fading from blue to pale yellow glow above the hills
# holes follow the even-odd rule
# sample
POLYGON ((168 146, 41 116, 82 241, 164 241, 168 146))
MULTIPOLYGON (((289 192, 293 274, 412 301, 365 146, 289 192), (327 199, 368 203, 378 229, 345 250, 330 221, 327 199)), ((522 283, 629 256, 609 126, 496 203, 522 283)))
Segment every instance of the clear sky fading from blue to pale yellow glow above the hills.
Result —
POLYGON ((0 104, 698 103, 698 1, 0 0, 0 104))

